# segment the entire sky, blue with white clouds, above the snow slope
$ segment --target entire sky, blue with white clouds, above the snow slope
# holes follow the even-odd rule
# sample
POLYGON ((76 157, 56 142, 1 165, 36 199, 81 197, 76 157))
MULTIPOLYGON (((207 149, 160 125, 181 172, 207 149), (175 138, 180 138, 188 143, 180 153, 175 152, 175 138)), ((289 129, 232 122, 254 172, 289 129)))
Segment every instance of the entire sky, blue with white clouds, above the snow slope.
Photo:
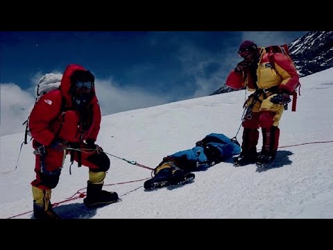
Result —
MULTIPOLYGON (((0 32, 1 97, 28 94, 33 104, 39 78, 46 73, 62 73, 69 63, 81 64, 95 75, 103 115, 204 97, 219 89, 241 60, 237 49, 243 40, 253 40, 258 46, 288 44, 305 33, 0 32)), ((22 105, 19 99, 6 99, 6 103, 1 100, 1 123, 8 119, 3 110, 10 110, 10 116, 17 115, 12 110, 28 112, 26 103, 22 105)))

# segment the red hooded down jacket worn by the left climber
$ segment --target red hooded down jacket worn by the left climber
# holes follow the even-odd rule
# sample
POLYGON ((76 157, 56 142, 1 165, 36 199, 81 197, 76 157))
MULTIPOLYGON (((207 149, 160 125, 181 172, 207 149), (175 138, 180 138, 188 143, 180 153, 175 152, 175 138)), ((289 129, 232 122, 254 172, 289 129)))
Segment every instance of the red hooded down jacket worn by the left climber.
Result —
POLYGON ((49 146, 53 140, 83 142, 97 139, 101 110, 94 87, 92 100, 84 111, 75 110, 71 101, 71 75, 76 70, 86 69, 80 65, 68 65, 62 75, 60 90, 44 94, 31 111, 28 126, 40 144, 49 146), (62 99, 65 100, 65 112, 61 110, 62 99))

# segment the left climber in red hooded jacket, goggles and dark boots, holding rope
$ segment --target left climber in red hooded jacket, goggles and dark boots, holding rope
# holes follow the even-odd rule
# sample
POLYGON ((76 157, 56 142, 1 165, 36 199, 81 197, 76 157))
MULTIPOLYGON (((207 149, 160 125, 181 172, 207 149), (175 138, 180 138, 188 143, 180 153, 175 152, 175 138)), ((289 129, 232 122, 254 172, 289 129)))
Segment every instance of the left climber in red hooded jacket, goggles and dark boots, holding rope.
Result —
POLYGON ((118 200, 116 192, 102 190, 110 159, 95 144, 100 124, 94 75, 80 65, 68 65, 60 88, 44 94, 35 103, 28 120, 35 149, 36 178, 31 185, 36 219, 60 218, 50 199, 67 154, 79 167, 81 164, 89 167, 87 197, 83 200, 87 206, 118 200))

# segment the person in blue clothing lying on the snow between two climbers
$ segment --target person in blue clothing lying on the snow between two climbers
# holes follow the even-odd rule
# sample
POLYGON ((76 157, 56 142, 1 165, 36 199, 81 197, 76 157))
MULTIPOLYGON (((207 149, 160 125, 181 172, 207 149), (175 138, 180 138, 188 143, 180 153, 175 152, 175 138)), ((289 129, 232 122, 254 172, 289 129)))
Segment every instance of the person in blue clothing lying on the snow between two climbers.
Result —
POLYGON ((223 134, 211 133, 196 142, 196 147, 163 158, 152 172, 153 178, 144 182, 146 190, 168 185, 182 185, 194 180, 191 171, 199 171, 239 154, 241 147, 223 134))

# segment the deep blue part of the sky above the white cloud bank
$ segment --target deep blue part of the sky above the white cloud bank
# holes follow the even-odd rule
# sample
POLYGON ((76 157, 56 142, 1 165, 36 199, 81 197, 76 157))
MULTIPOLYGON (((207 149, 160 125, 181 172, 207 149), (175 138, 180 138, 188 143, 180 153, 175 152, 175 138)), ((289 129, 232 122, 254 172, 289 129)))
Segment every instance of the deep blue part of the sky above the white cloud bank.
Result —
MULTIPOLYGON (((97 78, 112 78, 119 85, 140 86, 151 92, 194 93, 191 85, 196 74, 187 67, 223 54, 236 52, 244 38, 260 45, 289 43, 306 32, 230 32, 230 31, 157 31, 157 32, 2 32, 1 82, 28 88, 37 73, 62 72, 69 63, 79 63, 97 78), (260 38, 260 33, 262 38, 260 38), (265 36, 266 34, 266 36, 265 36), (268 35, 271 34, 271 35, 268 35)), ((237 58, 237 53, 230 58, 237 58)), ((201 69, 211 78, 222 67, 212 62, 201 69)), ((212 90, 219 88, 219 84, 212 90)))

